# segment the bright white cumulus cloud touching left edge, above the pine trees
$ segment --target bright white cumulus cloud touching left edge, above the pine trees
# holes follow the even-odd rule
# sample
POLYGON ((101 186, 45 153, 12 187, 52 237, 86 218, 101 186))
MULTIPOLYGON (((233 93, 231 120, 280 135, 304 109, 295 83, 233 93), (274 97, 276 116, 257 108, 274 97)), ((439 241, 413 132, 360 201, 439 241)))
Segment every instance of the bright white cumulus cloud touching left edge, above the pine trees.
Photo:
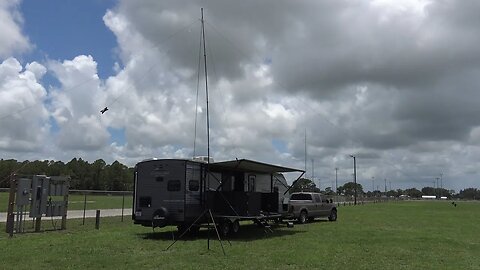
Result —
POLYGON ((46 68, 36 62, 22 65, 15 58, 0 64, 0 149, 34 151, 48 133, 47 96, 40 79, 46 68))

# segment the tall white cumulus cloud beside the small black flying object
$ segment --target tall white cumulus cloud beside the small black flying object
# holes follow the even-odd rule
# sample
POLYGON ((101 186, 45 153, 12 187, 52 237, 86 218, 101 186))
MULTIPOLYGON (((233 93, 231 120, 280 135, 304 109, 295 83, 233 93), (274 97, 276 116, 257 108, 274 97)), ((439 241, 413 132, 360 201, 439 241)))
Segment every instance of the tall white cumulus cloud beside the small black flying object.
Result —
POLYGON ((110 134, 100 118, 105 95, 91 56, 51 62, 49 68, 61 83, 51 91, 52 115, 58 124, 58 146, 66 150, 101 150, 110 134))

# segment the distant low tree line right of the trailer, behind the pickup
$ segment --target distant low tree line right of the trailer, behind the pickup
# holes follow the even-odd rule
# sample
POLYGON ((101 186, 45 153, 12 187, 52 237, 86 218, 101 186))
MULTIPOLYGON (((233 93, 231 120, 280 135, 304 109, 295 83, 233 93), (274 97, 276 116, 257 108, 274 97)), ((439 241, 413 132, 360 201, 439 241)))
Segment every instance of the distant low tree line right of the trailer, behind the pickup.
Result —
POLYGON ((382 192, 380 190, 367 191, 363 190, 363 186, 359 183, 347 182, 344 185, 341 185, 337 188, 337 191, 332 189, 332 187, 326 187, 325 190, 320 190, 315 183, 307 178, 299 179, 295 185, 290 189, 290 192, 299 192, 299 191, 308 191, 308 192, 321 192, 326 195, 344 195, 344 196, 354 196, 355 187, 357 189, 357 196, 362 197, 400 197, 408 196, 410 198, 421 198, 423 195, 427 196, 437 196, 437 197, 447 197, 449 199, 458 198, 466 200, 480 200, 480 190, 476 188, 466 188, 460 190, 460 192, 455 193, 453 190, 447 190, 444 188, 435 188, 435 187, 423 187, 421 190, 417 188, 407 188, 407 189, 396 189, 388 190, 382 192))

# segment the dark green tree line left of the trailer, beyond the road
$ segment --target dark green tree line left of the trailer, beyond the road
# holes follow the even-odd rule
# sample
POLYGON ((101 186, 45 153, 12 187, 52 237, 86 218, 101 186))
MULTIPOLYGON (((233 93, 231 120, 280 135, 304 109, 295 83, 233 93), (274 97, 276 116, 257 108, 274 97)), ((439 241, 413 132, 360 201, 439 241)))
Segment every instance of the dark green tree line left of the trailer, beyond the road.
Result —
POLYGON ((20 162, 15 159, 0 159, 0 187, 9 187, 12 173, 19 177, 70 176, 70 189, 132 190, 134 168, 118 161, 107 164, 103 159, 92 163, 81 158, 73 158, 67 163, 54 160, 20 162))

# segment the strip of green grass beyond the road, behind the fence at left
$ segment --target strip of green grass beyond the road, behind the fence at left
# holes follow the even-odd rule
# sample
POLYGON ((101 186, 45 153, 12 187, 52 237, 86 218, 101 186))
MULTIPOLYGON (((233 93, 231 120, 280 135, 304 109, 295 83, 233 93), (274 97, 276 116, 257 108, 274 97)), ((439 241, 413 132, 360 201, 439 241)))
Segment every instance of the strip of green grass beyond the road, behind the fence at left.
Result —
MULTIPOLYGON (((85 196, 71 194, 68 197, 68 210, 83 210, 85 196)), ((7 212, 8 192, 0 192, 0 212, 7 212)), ((132 195, 125 195, 125 208, 132 207, 132 195)), ((87 195, 88 209, 122 208, 121 195, 87 195)))

